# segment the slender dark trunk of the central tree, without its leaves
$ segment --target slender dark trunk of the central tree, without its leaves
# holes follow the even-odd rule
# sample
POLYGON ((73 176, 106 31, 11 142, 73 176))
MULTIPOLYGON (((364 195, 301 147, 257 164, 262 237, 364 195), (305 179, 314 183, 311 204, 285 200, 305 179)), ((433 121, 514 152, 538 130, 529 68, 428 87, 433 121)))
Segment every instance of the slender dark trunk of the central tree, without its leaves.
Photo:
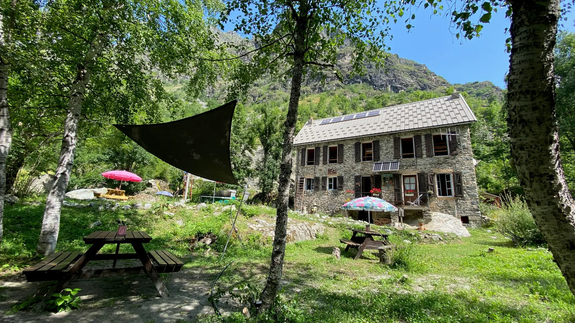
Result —
MULTIPOLYGON (((262 306, 259 311, 269 310, 278 294, 283 273, 283 257, 286 251, 287 211, 289 208, 290 178, 292 177, 293 135, 296 130, 297 108, 300 102, 301 80, 304 70, 305 30, 308 8, 300 3, 299 17, 296 17, 294 30, 294 53, 292 67, 292 89, 290 91, 287 116, 283 131, 282 161, 279 166, 278 208, 275 218, 275 236, 271 251, 270 271, 266 286, 262 291, 262 306)), ((295 16, 295 14, 294 14, 295 16)))

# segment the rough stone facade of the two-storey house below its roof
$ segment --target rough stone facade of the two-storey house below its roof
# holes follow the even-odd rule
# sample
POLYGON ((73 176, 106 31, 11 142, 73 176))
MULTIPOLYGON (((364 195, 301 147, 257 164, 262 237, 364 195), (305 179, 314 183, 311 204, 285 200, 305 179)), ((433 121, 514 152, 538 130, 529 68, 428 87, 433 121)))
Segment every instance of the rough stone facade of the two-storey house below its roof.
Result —
MULTIPOLYGON (((457 136, 457 154, 447 155, 447 156, 427 156, 426 152, 426 134, 427 140, 429 140, 429 134, 440 134, 446 133, 446 127, 442 128, 428 128, 428 129, 416 129, 406 132, 399 133, 383 133, 374 136, 363 136, 363 137, 352 137, 337 141, 327 141, 321 143, 309 143, 303 145, 297 145, 297 166, 295 170, 296 174, 296 187, 301 178, 319 178, 320 182, 323 182, 323 177, 340 176, 339 179, 343 179, 343 183, 338 183, 338 188, 335 190, 328 190, 327 187, 322 187, 323 183, 319 183, 315 190, 304 190, 302 198, 302 210, 306 212, 313 212, 315 208, 317 210, 328 213, 342 213, 346 214, 345 210, 339 209, 347 200, 356 197, 356 193, 346 193, 346 190, 356 191, 356 176, 372 176, 378 177, 381 175, 381 198, 386 201, 391 201, 396 206, 404 209, 404 219, 413 222, 416 218, 425 217, 430 212, 441 212, 451 214, 454 217, 461 218, 463 223, 469 223, 469 225, 480 224, 480 210, 478 206, 478 193, 477 193, 477 182, 476 182, 476 172, 474 166, 473 152, 471 151, 471 138, 469 133, 469 125, 457 125, 450 127, 452 132, 458 134, 457 136), (394 147, 397 146, 394 143, 394 138, 409 138, 413 136, 421 136, 421 157, 411 157, 411 158, 394 158, 394 147), (356 161, 355 147, 356 143, 369 143, 373 141, 379 141, 379 160, 375 161, 356 161), (324 164, 324 146, 336 146, 343 145, 343 162, 342 163, 327 163, 324 164), (319 164, 310 166, 301 166, 302 161, 302 148, 316 148, 320 147, 320 161, 319 164), (373 166, 375 162, 378 161, 399 161, 400 166, 397 171, 373 171, 373 166), (390 175, 385 175, 390 174, 390 175), (418 175, 419 174, 419 175, 418 175), (450 174, 451 179, 451 194, 452 196, 442 197, 439 196, 437 190, 437 174, 450 174), (406 176, 415 175, 415 181, 417 182, 417 193, 414 193, 413 197, 403 196, 404 186, 403 182, 406 176), (456 176, 458 176, 456 178, 456 176), (455 180, 461 178, 458 190, 456 191, 455 180), (398 179, 401 179, 398 188, 398 179), (421 180, 424 180, 421 184, 421 180), (430 180, 434 183, 430 185, 430 180), (421 185, 420 185, 421 184, 421 185), (424 186, 425 187, 420 187, 424 186), (430 195, 430 191, 433 187, 433 194, 430 195), (400 190, 397 195, 397 191, 400 190), (461 194, 462 193, 462 194, 461 194), (419 203, 419 206, 411 206, 406 202, 400 201, 401 199, 415 199, 419 194, 424 194, 423 201, 419 203), (456 196, 458 195, 458 196, 456 196), (425 201, 427 198, 427 201, 425 201)), ((448 143, 449 146, 449 143, 448 143)), ((397 148, 395 148, 397 149, 397 148)), ((451 150, 454 149, 450 149, 451 150)), ((397 153, 397 152, 396 152, 397 153)), ((433 153, 431 154, 433 155, 433 153)), ((315 155, 317 157, 317 155, 315 155)), ((342 156, 340 156, 340 159, 342 156)), ((377 158, 377 157, 376 157, 377 158)), ((368 179, 365 177, 365 181, 368 179)), ((378 182, 378 179, 374 177, 369 177, 369 182, 378 182)), ((363 179, 361 181, 363 184, 363 179)), ((365 187, 361 187, 361 191, 369 192, 365 187)), ((379 184, 379 183, 374 183, 379 184)), ((367 185, 367 184, 366 184, 367 185)), ((366 186, 364 185, 364 186, 366 186)), ((372 186, 373 187, 373 186, 372 186)), ((445 191, 445 190, 443 190, 445 191)), ((366 195, 366 193, 364 193, 366 195)), ((359 196, 359 194, 357 195, 359 196)), ((296 197, 297 199, 297 197, 296 197)), ((297 201, 296 201, 297 203, 297 201)), ((296 208, 298 205, 296 205, 296 208)), ((358 211, 348 211, 348 216, 358 217, 358 211)), ((372 212, 374 219, 379 218, 389 218, 391 225, 398 221, 397 213, 390 214, 386 212, 372 212)), ((364 214, 361 215, 362 217, 364 214)))

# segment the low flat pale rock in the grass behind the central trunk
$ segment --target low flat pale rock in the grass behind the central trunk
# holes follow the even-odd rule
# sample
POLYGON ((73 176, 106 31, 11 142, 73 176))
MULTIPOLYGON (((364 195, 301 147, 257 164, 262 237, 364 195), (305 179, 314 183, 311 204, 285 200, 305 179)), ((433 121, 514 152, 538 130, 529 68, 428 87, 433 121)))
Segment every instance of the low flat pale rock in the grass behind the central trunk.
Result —
MULTIPOLYGON (((252 223, 248 224, 248 228, 256 230, 267 237, 274 237, 275 224, 269 223, 265 220, 255 218, 252 223)), ((288 243, 304 240, 315 240, 317 234, 322 234, 325 227, 319 223, 310 224, 305 221, 298 221, 287 219, 287 237, 288 243)))

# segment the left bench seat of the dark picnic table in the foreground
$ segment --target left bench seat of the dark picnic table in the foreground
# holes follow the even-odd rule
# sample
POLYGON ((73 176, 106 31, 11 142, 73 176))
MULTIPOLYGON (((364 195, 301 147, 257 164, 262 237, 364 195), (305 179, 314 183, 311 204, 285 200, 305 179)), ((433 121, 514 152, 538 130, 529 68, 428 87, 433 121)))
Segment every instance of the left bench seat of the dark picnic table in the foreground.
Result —
POLYGON ((24 275, 29 282, 59 280, 68 266, 80 259, 81 256, 82 254, 79 252, 56 252, 34 266, 26 268, 24 275))

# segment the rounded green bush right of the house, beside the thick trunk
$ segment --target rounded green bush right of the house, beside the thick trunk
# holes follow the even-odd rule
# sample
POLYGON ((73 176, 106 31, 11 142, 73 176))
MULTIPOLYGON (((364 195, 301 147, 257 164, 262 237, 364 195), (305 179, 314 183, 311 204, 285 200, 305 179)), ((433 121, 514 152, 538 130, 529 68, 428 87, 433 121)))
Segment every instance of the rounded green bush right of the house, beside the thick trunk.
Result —
POLYGON ((535 220, 520 197, 503 197, 504 205, 494 211, 497 232, 513 240, 517 245, 539 245, 545 243, 543 235, 535 225, 535 220))

